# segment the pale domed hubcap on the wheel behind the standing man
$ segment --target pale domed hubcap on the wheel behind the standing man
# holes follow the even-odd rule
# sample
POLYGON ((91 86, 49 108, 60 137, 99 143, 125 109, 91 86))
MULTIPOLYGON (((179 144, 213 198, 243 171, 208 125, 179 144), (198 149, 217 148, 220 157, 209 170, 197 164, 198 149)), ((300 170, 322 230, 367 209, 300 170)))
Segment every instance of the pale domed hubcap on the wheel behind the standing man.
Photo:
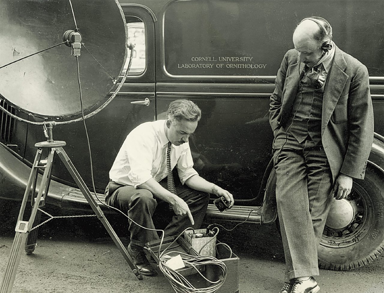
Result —
POLYGON ((346 199, 334 199, 329 209, 326 226, 331 229, 343 229, 354 219, 354 210, 351 203, 346 199))

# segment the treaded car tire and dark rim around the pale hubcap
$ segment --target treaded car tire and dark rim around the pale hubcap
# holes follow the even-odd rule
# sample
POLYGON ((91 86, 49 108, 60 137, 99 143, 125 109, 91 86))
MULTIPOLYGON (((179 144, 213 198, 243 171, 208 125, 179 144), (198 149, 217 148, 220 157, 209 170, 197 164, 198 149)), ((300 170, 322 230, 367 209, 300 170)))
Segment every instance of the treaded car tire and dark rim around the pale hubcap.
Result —
POLYGON ((350 270, 362 267, 382 255, 383 177, 383 173, 368 166, 364 180, 354 179, 352 191, 346 197, 353 207, 352 221, 340 229, 328 227, 326 224, 318 247, 320 268, 350 270))

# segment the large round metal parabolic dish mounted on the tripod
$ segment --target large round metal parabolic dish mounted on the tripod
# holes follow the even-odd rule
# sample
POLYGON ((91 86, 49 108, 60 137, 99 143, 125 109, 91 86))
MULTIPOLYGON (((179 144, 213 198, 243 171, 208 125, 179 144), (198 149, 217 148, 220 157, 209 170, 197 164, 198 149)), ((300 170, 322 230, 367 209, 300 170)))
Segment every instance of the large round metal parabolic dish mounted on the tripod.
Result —
MULTIPOLYGON (((76 27, 85 46, 78 61, 83 110, 89 114, 106 102, 126 61, 126 21, 117 1, 1 0, 0 67, 63 43, 63 34, 76 27)), ((71 47, 61 44, 0 68, 0 95, 44 119, 80 115, 71 47)))

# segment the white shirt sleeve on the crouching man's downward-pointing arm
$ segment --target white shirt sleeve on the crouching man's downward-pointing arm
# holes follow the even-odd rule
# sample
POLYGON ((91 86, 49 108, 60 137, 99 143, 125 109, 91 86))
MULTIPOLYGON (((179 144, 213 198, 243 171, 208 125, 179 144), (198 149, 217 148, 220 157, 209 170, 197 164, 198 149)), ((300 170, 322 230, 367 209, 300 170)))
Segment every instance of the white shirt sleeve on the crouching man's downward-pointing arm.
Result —
POLYGON ((127 137, 124 151, 131 169, 128 178, 135 188, 152 178, 153 140, 154 138, 132 132, 127 137))

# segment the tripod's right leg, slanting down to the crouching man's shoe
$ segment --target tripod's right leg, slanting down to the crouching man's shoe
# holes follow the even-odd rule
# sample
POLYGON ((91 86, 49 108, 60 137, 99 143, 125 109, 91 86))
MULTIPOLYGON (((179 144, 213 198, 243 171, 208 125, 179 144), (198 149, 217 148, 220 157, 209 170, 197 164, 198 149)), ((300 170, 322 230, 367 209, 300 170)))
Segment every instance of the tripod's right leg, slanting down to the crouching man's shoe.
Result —
POLYGON ((79 189, 81 190, 81 193, 83 193, 84 197, 88 201, 89 205, 92 207, 92 209, 95 212, 95 214, 97 215, 98 219, 101 221, 101 223, 103 223, 105 229, 108 231, 108 233, 111 236, 111 238, 113 239, 114 243, 116 244, 116 246, 118 247, 118 249, 122 253, 122 255, 125 258, 126 262, 128 263, 129 267, 131 267, 132 272, 136 275, 136 277, 139 280, 141 280, 142 279, 141 273, 134 266, 131 256, 128 254, 126 248, 121 243, 121 240, 119 239, 118 235, 113 230, 111 224, 109 224, 108 220, 104 216, 103 211, 101 210, 101 208, 99 207, 99 205, 97 204, 95 199, 92 197, 91 192, 89 191, 88 187, 84 183, 83 178, 81 178, 80 174, 78 173, 78 171, 74 167, 70 158, 68 157, 68 155, 66 154, 66 152, 64 151, 64 149, 62 147, 55 148, 55 150, 56 150, 56 153, 58 153, 61 161, 63 161, 67 170, 70 172, 72 178, 74 179, 74 181, 78 185, 79 189))

